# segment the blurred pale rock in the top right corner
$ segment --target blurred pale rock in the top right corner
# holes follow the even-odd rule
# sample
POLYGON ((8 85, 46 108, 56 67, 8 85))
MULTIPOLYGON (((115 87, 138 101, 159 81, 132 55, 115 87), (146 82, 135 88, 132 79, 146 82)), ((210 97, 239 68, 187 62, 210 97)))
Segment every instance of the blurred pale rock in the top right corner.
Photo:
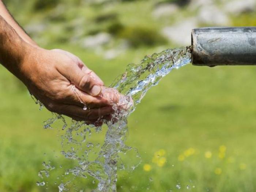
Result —
POLYGON ((256 1, 255 0, 235 0, 230 1, 224 6, 224 10, 228 13, 232 14, 241 14, 244 12, 251 12, 255 11, 256 8, 256 1))

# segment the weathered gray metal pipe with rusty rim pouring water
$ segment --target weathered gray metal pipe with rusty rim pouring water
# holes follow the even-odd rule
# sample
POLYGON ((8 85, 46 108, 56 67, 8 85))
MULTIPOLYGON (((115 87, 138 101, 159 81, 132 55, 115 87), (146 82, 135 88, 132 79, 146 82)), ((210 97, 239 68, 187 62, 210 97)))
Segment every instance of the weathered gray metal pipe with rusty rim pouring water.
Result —
POLYGON ((192 49, 193 65, 256 65, 256 27, 193 29, 192 49))

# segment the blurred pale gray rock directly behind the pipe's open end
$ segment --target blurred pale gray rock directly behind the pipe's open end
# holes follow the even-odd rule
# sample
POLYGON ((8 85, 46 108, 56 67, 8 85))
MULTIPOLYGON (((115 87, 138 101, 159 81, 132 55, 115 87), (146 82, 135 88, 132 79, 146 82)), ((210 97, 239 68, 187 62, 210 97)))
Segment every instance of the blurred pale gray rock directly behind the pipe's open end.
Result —
POLYGON ((181 46, 191 45, 191 30, 197 27, 196 19, 187 19, 162 30, 162 35, 181 46))

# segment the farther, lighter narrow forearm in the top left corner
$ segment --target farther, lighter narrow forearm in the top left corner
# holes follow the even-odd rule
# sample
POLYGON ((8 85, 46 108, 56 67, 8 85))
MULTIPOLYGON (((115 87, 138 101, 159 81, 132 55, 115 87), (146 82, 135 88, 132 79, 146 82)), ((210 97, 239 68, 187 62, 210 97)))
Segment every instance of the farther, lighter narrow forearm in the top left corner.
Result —
POLYGON ((2 0, 0 0, 0 15, 12 28, 14 28, 20 38, 22 38, 30 45, 37 46, 37 44, 29 37, 29 35, 27 35, 26 32, 19 26, 19 24, 12 18, 2 0))

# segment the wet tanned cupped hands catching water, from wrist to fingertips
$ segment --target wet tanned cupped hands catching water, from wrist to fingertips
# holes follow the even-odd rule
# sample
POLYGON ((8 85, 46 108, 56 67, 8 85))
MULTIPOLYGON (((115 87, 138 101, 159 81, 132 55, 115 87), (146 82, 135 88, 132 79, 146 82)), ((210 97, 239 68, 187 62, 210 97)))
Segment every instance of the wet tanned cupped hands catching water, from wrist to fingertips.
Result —
POLYGON ((100 96, 102 80, 78 57, 63 50, 35 47, 27 53, 19 78, 49 111, 87 123, 113 112, 109 100, 100 96))

